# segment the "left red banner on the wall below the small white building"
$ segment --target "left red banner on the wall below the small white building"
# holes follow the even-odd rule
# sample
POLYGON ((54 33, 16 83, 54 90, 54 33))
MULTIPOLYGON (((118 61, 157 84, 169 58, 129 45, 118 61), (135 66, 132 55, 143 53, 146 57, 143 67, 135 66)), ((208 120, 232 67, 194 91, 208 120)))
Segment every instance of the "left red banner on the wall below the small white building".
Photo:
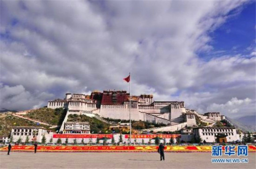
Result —
POLYGON ((53 138, 113 138, 113 134, 53 134, 53 138))

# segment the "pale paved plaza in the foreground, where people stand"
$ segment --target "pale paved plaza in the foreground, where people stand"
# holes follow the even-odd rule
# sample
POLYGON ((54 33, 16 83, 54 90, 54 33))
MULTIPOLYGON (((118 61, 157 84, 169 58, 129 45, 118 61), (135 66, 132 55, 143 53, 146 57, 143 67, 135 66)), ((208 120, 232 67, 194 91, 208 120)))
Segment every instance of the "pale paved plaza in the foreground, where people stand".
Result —
MULTIPOLYGON (((255 169, 256 153, 249 153, 248 164, 212 164, 211 153, 43 153, 0 152, 0 169, 255 169)), ((227 158, 223 156, 223 158, 227 158)), ((237 158, 232 156, 232 158, 237 158)), ((245 158, 245 157, 243 157, 245 158)))

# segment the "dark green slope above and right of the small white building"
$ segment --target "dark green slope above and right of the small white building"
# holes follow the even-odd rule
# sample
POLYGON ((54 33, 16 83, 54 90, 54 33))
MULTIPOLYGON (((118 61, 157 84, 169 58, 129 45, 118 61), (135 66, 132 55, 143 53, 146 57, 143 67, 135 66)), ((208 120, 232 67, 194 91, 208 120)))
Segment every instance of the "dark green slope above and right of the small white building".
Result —
POLYGON ((90 133, 111 133, 109 130, 109 124, 98 120, 97 118, 90 118, 86 115, 70 114, 68 115, 67 121, 79 121, 79 122, 89 122, 90 123, 90 133))

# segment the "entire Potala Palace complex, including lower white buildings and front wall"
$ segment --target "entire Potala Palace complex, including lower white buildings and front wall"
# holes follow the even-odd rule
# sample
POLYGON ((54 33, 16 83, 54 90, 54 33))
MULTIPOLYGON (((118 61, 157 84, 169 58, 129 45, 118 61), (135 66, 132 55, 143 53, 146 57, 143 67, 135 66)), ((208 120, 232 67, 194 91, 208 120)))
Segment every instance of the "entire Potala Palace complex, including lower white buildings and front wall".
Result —
MULTIPOLYGON (((184 102, 154 101, 152 95, 144 94, 130 97, 126 91, 111 90, 103 92, 94 91, 91 95, 67 93, 64 99, 49 101, 48 108, 56 109, 63 107, 67 110, 58 133, 42 127, 15 126, 11 130, 11 136, 14 141, 21 139, 22 143, 25 142, 26 137, 32 141, 35 138, 40 141, 45 136, 47 142, 52 139, 53 143, 57 143, 59 139, 64 142, 67 138, 69 141, 76 140, 78 143, 82 143, 84 139, 85 143, 90 143, 90 140, 95 142, 97 138, 104 136, 113 137, 115 140, 119 140, 121 136, 124 142, 128 143, 128 134, 120 134, 121 132, 111 134, 91 133, 91 124, 89 122, 68 121, 68 116, 77 114, 95 117, 108 123, 111 130, 120 127, 129 130, 129 123, 113 123, 113 121, 107 121, 105 118, 129 120, 130 101, 131 119, 136 121, 132 122, 132 125, 140 125, 141 121, 165 124, 160 127, 153 126, 152 128, 139 130, 132 127, 134 133, 132 135, 133 143, 136 142, 136 138, 138 139, 137 143, 142 143, 142 138, 145 139, 146 143, 149 143, 151 138, 158 136, 156 134, 160 134, 160 137, 165 138, 167 142, 170 142, 171 138, 174 138, 176 142, 176 137, 179 137, 181 141, 189 142, 195 137, 201 138, 207 143, 220 142, 217 136, 222 135, 223 138, 219 139, 224 139, 224 141, 222 140, 223 142, 241 140, 243 136, 241 132, 237 132, 237 129, 225 116, 221 116, 218 112, 199 114, 196 110, 186 109, 184 102), (218 126, 216 124, 219 121, 225 121, 229 125, 218 126), (181 134, 177 136, 175 134, 169 135, 169 132, 176 131, 181 134), (34 132, 37 133, 35 138, 34 132), (168 132, 168 134, 161 135, 163 132, 168 132)), ((15 114, 21 117, 26 113, 17 112, 15 114)))

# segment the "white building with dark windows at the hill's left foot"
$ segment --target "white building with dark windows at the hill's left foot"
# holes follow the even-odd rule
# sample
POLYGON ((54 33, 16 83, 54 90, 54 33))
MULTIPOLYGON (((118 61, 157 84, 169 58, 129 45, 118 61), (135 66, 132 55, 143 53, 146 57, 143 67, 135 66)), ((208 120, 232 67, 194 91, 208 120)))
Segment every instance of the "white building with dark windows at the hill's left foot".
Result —
POLYGON ((43 127, 13 127, 11 129, 11 136, 13 137, 13 142, 21 139, 24 143, 26 137, 28 136, 29 141, 41 142, 43 135, 47 134, 47 129, 43 127))

